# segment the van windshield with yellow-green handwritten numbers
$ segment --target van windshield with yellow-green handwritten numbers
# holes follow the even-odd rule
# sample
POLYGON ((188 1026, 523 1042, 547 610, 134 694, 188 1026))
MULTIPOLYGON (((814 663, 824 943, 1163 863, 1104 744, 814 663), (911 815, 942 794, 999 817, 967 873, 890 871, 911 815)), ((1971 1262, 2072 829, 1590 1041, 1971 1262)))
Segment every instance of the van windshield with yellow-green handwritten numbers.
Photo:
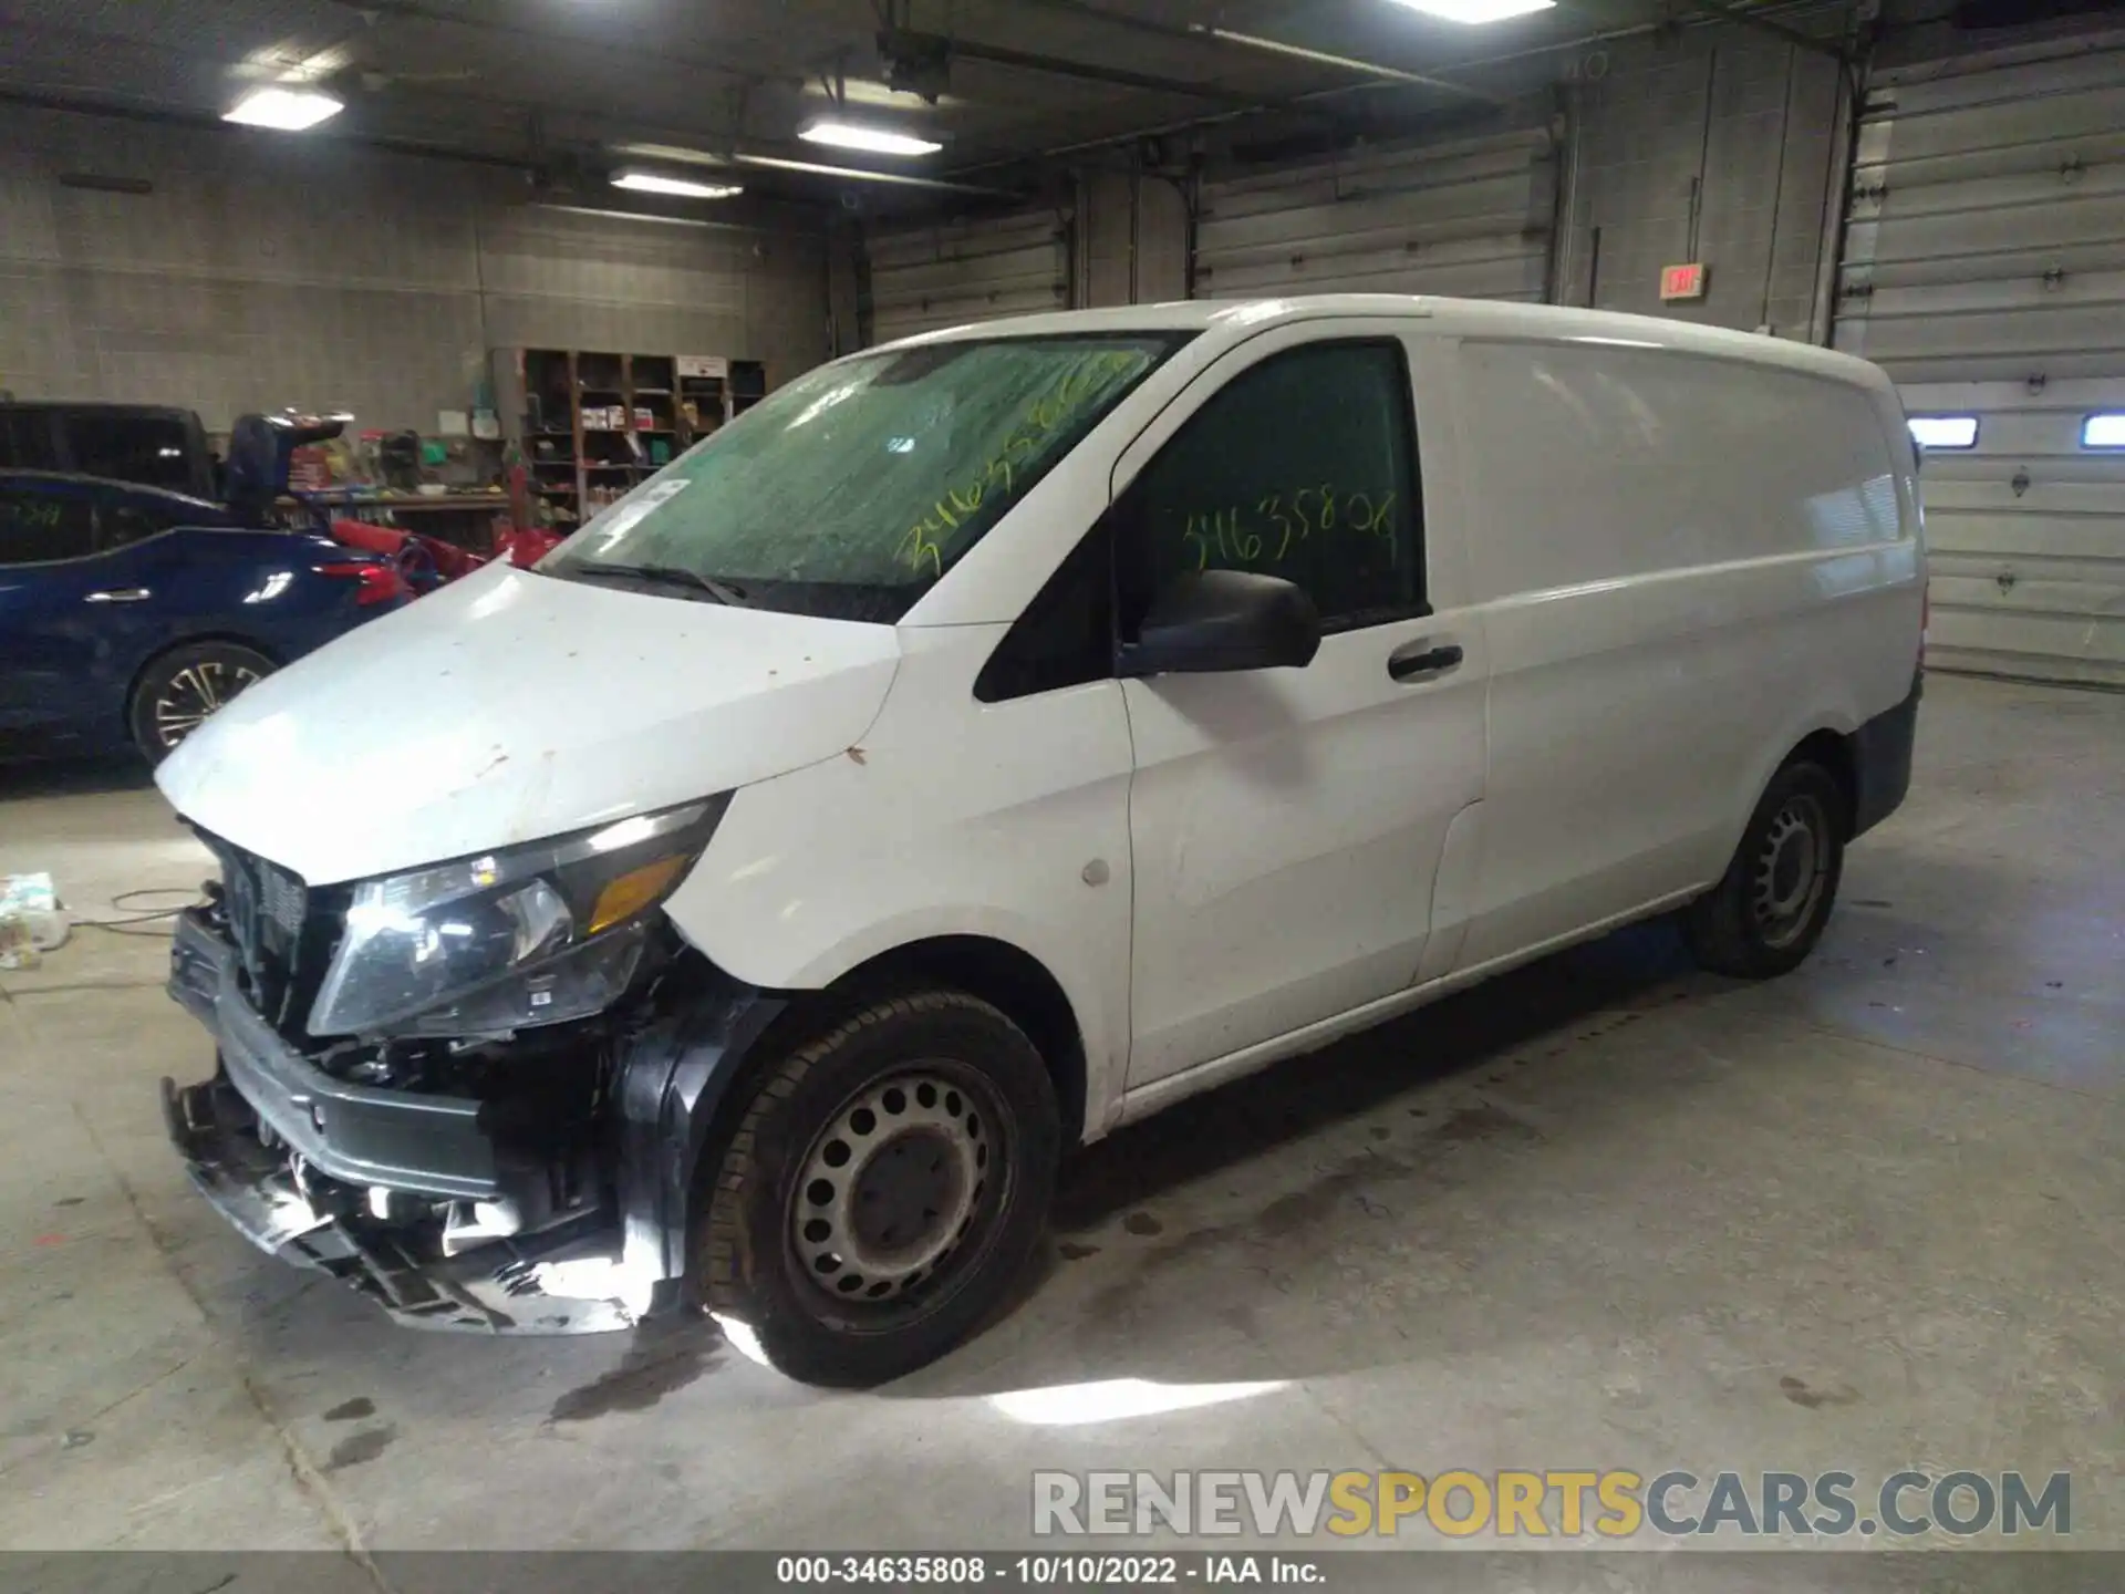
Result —
POLYGON ((935 342, 824 366, 601 510, 538 570, 899 621, 1188 336, 935 342))

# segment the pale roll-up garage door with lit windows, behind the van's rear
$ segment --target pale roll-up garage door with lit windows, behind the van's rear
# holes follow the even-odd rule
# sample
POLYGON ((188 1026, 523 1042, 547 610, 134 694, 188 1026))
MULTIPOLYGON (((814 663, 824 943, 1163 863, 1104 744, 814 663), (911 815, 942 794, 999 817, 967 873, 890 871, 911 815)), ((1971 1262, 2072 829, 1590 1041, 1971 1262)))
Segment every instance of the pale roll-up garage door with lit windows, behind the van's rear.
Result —
POLYGON ((1876 77, 1836 346, 1936 438, 1927 661, 2125 684, 2125 51, 1876 77))

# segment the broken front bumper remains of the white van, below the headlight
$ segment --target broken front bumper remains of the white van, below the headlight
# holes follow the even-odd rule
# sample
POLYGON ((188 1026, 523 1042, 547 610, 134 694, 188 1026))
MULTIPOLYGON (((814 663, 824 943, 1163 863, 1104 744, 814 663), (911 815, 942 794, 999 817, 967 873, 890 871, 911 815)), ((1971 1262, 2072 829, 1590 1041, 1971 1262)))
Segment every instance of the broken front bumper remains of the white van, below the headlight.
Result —
POLYGON ((355 1086, 317 1069, 244 1001, 236 950, 200 910, 178 918, 170 995, 221 1054, 212 1080, 162 1082, 170 1141, 198 1190, 253 1245, 332 1273, 419 1328, 565 1335, 642 1316, 646 1292, 625 1286, 612 1211, 440 1256, 402 1226, 321 1205, 306 1173, 346 1186, 340 1194, 497 1197, 499 1156, 480 1103, 355 1086))

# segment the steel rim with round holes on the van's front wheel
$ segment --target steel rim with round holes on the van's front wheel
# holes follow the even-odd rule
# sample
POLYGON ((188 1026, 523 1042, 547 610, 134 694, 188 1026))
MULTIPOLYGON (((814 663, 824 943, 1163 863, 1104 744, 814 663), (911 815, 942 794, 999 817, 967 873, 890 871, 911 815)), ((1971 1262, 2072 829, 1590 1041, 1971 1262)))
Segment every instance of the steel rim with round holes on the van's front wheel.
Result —
POLYGON ((790 1190, 797 1269, 846 1307, 929 1294, 997 1207, 1001 1152, 992 1095, 956 1069, 916 1063, 863 1086, 812 1139, 790 1190))

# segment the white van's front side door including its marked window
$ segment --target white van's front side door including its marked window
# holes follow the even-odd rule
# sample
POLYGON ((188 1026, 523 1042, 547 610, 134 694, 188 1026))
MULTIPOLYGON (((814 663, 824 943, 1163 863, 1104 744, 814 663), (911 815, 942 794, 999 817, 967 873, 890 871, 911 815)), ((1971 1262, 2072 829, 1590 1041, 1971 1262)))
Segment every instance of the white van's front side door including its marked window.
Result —
POLYGON ((1417 978, 1447 827, 1483 795, 1483 659, 1428 599, 1398 321, 1264 334, 1116 468, 1116 597, 1230 567, 1303 587, 1305 669, 1124 680, 1135 778, 1130 1088, 1417 978))

